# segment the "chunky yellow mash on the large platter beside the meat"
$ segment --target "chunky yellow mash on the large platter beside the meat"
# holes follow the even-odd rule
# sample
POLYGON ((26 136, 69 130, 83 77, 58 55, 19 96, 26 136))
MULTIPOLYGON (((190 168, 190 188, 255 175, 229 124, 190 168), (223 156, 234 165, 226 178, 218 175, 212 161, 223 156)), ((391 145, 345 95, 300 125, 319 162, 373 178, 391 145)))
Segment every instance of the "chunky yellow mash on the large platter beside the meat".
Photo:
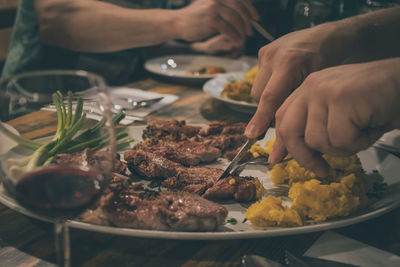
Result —
MULTIPOLYGON (((274 140, 266 148, 254 145, 254 157, 269 154, 274 140)), ((331 167, 327 178, 318 178, 295 160, 274 165, 270 170, 275 184, 289 184, 291 205, 282 205, 281 197, 268 196, 251 205, 246 218, 256 226, 301 226, 306 220, 322 222, 344 217, 368 204, 367 192, 372 182, 365 175, 357 155, 331 157, 323 155, 331 167)))

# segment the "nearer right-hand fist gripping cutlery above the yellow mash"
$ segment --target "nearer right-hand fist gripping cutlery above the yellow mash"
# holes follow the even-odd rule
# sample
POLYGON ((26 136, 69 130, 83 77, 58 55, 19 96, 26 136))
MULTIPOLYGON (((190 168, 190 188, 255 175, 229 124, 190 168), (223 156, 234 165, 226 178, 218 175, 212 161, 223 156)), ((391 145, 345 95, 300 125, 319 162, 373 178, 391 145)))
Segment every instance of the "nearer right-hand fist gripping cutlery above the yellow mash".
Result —
POLYGON ((276 113, 269 157, 287 152, 318 176, 327 175, 321 153, 348 156, 400 128, 400 58, 314 72, 276 113))

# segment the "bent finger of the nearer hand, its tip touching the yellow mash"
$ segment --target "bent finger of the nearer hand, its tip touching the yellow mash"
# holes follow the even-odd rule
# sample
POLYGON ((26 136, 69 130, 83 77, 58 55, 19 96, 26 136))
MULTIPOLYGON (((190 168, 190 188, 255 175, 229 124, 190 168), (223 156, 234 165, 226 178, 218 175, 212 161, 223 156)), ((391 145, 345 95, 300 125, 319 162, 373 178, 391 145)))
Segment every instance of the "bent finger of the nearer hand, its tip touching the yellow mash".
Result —
POLYGON ((320 153, 310 149, 304 140, 307 122, 307 105, 305 101, 297 100, 287 109, 279 122, 281 142, 289 154, 304 168, 313 171, 317 176, 328 175, 328 165, 320 153))

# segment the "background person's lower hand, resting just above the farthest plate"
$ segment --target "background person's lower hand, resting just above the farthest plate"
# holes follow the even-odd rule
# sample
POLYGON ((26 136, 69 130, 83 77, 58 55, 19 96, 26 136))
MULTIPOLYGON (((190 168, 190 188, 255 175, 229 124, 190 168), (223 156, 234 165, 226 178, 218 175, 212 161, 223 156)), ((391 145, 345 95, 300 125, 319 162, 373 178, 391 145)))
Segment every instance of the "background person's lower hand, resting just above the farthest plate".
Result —
POLYGON ((194 51, 206 54, 223 53, 229 57, 239 57, 244 51, 244 41, 240 44, 234 42, 226 35, 220 34, 203 42, 196 42, 191 45, 194 51))

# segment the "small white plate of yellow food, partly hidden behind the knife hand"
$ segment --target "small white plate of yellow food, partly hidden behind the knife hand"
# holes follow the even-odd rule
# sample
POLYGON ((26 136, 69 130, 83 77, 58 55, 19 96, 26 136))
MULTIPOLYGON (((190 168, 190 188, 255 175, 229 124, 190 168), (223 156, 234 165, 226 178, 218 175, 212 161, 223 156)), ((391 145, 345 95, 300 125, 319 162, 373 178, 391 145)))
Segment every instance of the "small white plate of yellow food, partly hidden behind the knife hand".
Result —
POLYGON ((203 85, 203 91, 208 95, 225 102, 231 109, 253 114, 257 109, 256 103, 249 103, 245 101, 237 101, 229 98, 225 98, 221 96, 221 92, 224 90, 224 85, 231 81, 241 81, 244 80, 245 72, 233 72, 221 74, 218 77, 215 77, 209 81, 207 81, 203 85))

